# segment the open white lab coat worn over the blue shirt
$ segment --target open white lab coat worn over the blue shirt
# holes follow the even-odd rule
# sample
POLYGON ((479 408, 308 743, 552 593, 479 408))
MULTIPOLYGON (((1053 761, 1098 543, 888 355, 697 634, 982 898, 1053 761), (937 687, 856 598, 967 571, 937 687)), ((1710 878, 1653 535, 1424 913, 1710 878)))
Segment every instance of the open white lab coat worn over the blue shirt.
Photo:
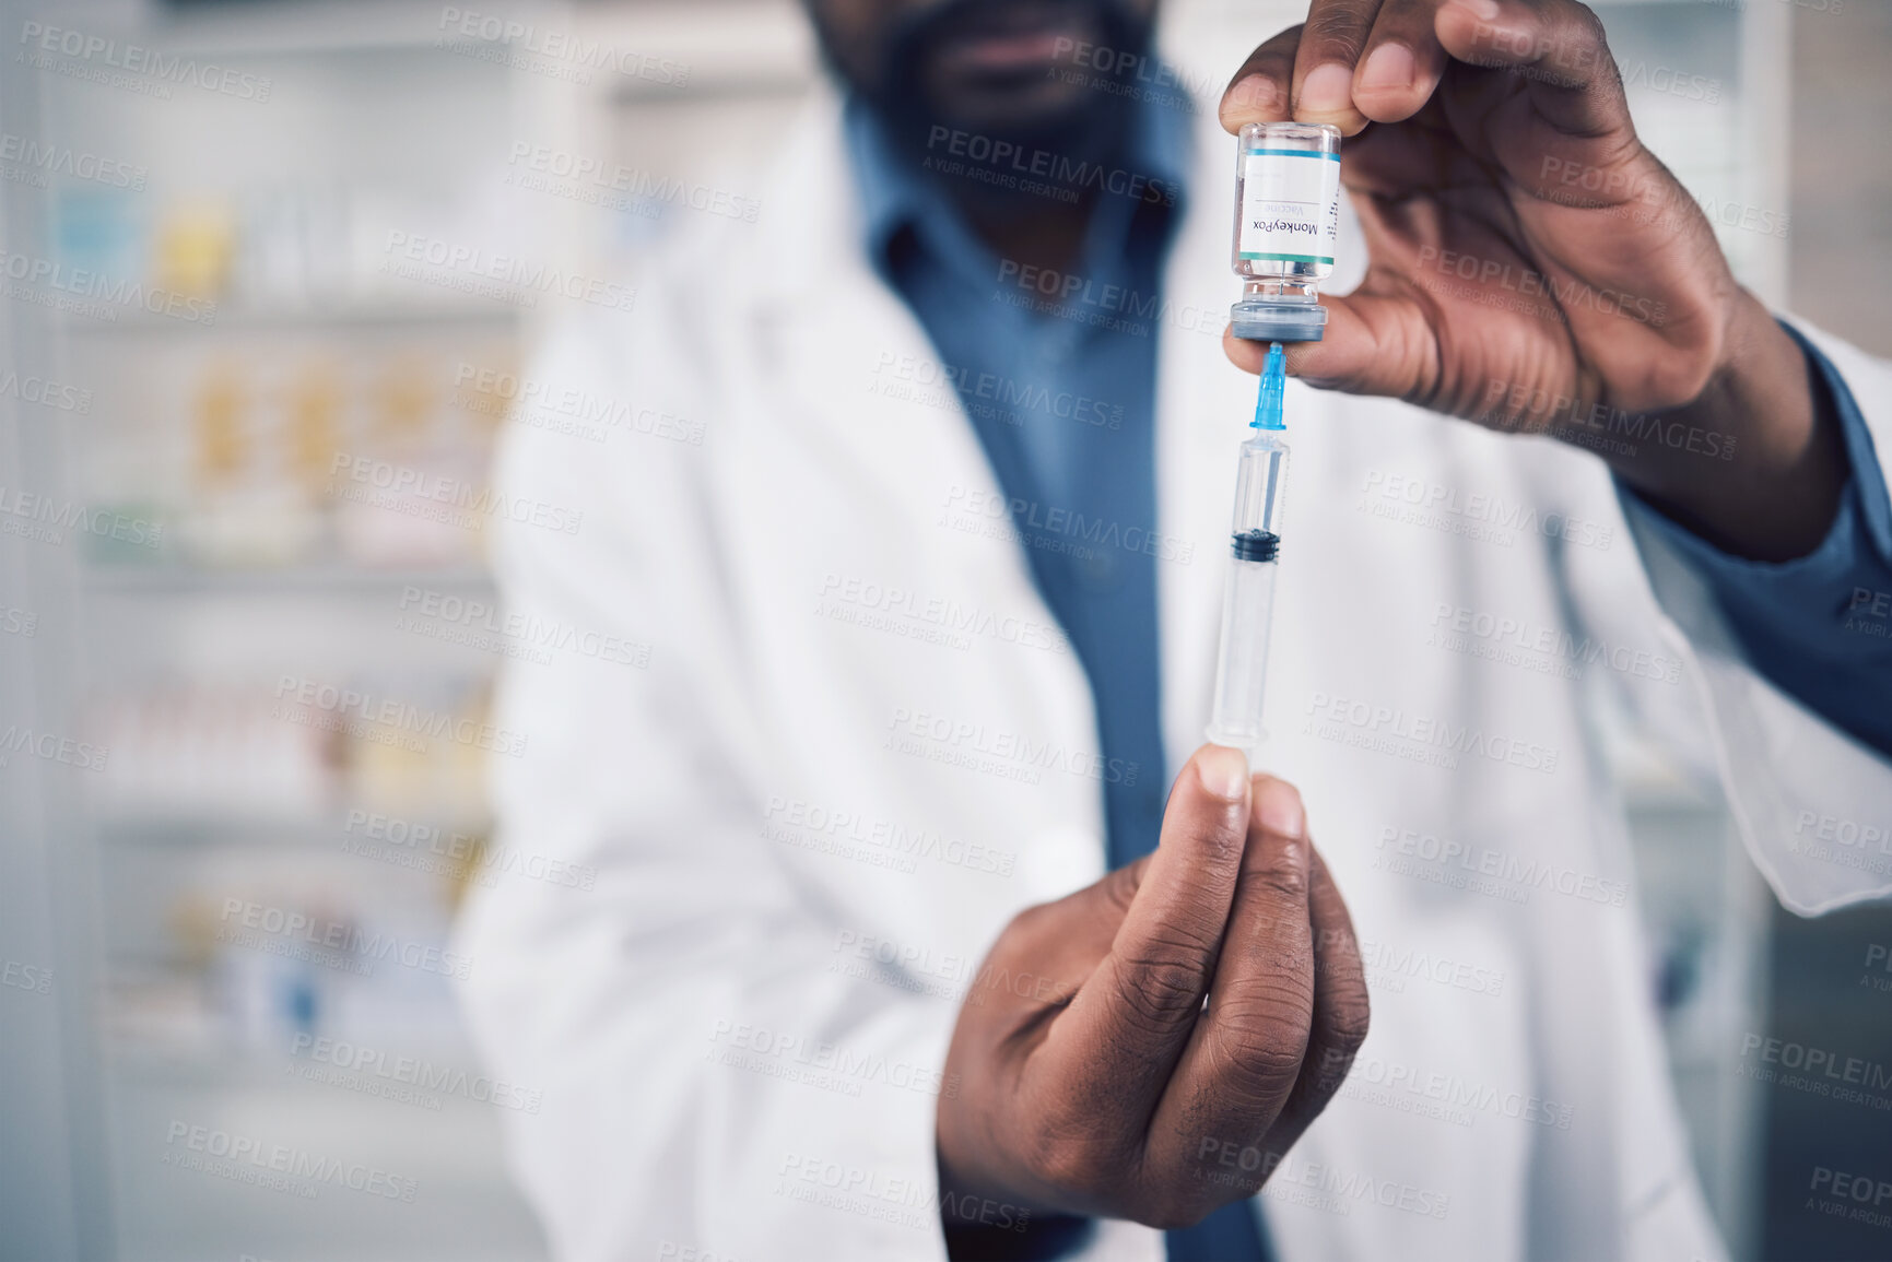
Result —
MULTIPOLYGON (((1218 341, 1228 142, 1201 123, 1156 318, 1169 768, 1207 719, 1254 397, 1218 341)), ((944 1256, 957 991, 1010 916, 1105 870, 1084 672, 1003 513, 967 509, 999 488, 865 259, 832 96, 785 134, 761 223, 666 252, 636 312, 575 324, 534 369, 569 407, 607 401, 609 443, 515 426, 501 460, 509 496, 583 513, 575 535, 503 537, 509 607, 590 649, 505 672, 499 723, 528 753, 496 759, 499 840, 596 876, 475 891, 460 948, 494 1073, 543 1092, 509 1118, 513 1158, 569 1262, 944 1256)), ((1892 450, 1892 375, 1818 341, 1892 450)), ((1720 770, 1799 912, 1892 885, 1858 846, 1809 850, 1801 814, 1884 823, 1892 766, 1748 670, 1591 456, 1288 392, 1260 764, 1305 797, 1374 1022, 1260 1198, 1283 1260, 1722 1256, 1593 694, 1720 770), (1428 643, 1461 609, 1610 657, 1578 681, 1544 668, 1570 660, 1555 647, 1525 668, 1428 643)), ((1162 1243, 1114 1222, 1084 1256, 1162 1243)))

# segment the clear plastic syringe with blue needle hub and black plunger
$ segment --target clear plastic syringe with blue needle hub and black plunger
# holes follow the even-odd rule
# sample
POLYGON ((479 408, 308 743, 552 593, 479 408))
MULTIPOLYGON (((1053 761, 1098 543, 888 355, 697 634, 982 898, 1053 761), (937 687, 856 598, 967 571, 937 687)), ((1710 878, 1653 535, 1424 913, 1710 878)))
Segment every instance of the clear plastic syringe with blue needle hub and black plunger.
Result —
POLYGON ((1281 501, 1288 484, 1288 445, 1281 439, 1281 394, 1287 358, 1281 342, 1268 346, 1262 395, 1254 405, 1254 435, 1241 445, 1235 475, 1235 522, 1230 539, 1228 587, 1222 592, 1222 658, 1215 668, 1215 715, 1209 740, 1251 757, 1262 730, 1262 692, 1268 683, 1268 624, 1275 611, 1275 571, 1281 552, 1281 501))

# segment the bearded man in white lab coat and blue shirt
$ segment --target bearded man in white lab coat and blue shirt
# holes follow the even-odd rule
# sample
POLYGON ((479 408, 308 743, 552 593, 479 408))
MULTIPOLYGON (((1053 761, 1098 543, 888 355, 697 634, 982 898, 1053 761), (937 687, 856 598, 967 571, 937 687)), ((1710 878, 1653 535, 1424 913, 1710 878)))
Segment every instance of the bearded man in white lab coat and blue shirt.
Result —
POLYGON ((501 465, 585 522, 515 611, 639 645, 507 674, 503 838, 596 878, 462 925, 560 1258, 1722 1253, 1595 715, 1790 908, 1892 889, 1892 377, 1731 282, 1587 9, 1317 0, 1220 117, 1341 127, 1358 210, 1245 783, 1192 751, 1258 352, 1150 8, 819 0, 762 223, 534 373, 704 435, 501 465))

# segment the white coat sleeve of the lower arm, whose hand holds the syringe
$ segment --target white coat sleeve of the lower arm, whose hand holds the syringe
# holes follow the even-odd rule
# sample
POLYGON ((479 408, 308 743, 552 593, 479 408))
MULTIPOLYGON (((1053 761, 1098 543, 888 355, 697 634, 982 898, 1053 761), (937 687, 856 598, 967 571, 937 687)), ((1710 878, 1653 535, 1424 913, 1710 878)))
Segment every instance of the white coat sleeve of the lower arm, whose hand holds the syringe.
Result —
MULTIPOLYGON (((537 378, 592 382, 611 354, 564 352, 537 378)), ((543 645, 498 694, 526 736, 492 778, 522 870, 475 889, 458 937, 490 1073, 543 1097, 507 1114, 511 1160, 566 1262, 944 1258, 933 1135, 955 1008, 863 976, 768 840, 736 641, 759 628, 727 607, 708 465, 679 433, 505 443, 509 503, 581 522, 511 526, 496 556, 507 628, 543 645), (535 857, 560 876, 524 874, 535 857)), ((711 422, 708 441, 728 435, 711 422)))

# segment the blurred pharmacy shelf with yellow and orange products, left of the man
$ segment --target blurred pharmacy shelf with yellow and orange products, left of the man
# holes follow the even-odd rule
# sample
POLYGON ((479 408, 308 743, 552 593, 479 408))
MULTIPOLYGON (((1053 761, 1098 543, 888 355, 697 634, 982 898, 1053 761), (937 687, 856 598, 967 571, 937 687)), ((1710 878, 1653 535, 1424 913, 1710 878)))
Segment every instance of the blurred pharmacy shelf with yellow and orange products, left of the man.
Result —
POLYGON ((6 312, 38 339, 25 365, 74 405, 0 479, 59 518, 0 604, 40 615, 21 645, 36 727, 104 753, 95 774, 42 772, 26 821, 62 855, 44 887, 62 889, 66 935, 45 950, 62 1044, 83 1054, 38 1122, 47 1143, 74 1137, 68 1201, 32 1207, 38 1239, 66 1243, 0 1258, 543 1256, 505 1175, 507 1109, 454 1090, 481 1078, 450 918, 467 882, 505 880, 481 863, 488 749, 307 698, 371 691, 435 732, 486 721, 503 657, 407 626, 401 600, 496 604, 486 467, 511 401, 469 382, 517 371, 552 301, 403 242, 532 259, 537 206, 505 185, 507 151, 562 89, 435 47, 437 4, 6 9, 11 28, 30 11, 218 57, 269 95, 114 91, 57 68, 0 91, 9 131, 134 172, 6 191, 9 248, 110 284, 6 312), (367 836, 390 815, 433 840, 367 836), (420 1058, 445 1090, 318 1061, 318 1039, 420 1058), (180 1169, 178 1120, 361 1162, 414 1196, 180 1169))

